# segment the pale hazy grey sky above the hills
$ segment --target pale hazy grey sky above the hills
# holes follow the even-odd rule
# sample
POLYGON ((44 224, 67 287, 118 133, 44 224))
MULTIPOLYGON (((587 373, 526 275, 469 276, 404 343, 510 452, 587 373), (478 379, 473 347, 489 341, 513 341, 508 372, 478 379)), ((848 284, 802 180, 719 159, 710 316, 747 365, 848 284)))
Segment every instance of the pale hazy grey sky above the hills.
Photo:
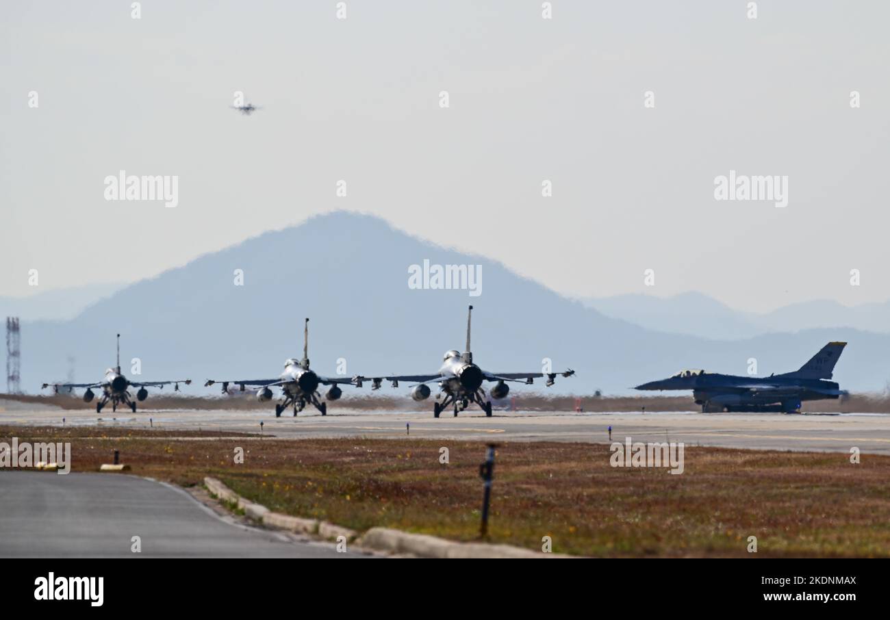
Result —
POLYGON ((130 4, 0 5, 0 294, 350 209, 575 296, 890 298, 886 2, 130 4), (179 205, 106 201, 119 170, 178 175, 179 205), (730 170, 789 205, 716 201, 730 170))

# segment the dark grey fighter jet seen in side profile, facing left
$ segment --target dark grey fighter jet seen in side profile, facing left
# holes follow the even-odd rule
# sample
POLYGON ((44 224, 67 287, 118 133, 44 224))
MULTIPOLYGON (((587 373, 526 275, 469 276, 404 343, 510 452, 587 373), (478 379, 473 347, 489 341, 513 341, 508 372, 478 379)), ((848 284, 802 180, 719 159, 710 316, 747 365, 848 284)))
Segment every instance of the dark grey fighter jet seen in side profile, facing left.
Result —
POLYGON ((810 361, 793 373, 768 377, 684 370, 667 379, 637 385, 636 390, 692 390, 695 404, 704 413, 775 411, 800 413, 804 400, 838 399, 847 392, 831 378, 846 342, 829 342, 810 361))

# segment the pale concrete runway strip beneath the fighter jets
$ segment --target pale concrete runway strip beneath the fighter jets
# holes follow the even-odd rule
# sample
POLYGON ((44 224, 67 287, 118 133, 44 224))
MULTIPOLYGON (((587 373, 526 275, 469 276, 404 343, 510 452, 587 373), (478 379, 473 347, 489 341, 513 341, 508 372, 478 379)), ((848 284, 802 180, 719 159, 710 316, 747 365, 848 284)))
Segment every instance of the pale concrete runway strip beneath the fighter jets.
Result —
MULTIPOLYGON (((270 407, 271 408, 271 407, 270 407)), ((138 414, 118 413, 112 419, 103 412, 101 421, 89 407, 83 410, 35 408, 0 400, 0 424, 132 425, 162 429, 260 432, 279 438, 371 437, 421 439, 471 439, 481 441, 582 441, 605 443, 635 441, 683 441, 687 445, 775 450, 815 450, 890 455, 890 415, 783 415, 674 413, 522 413, 495 412, 486 418, 481 411, 458 417, 428 413, 385 413, 338 410, 328 415, 303 412, 296 418, 276 418, 268 411, 182 410, 138 414)))

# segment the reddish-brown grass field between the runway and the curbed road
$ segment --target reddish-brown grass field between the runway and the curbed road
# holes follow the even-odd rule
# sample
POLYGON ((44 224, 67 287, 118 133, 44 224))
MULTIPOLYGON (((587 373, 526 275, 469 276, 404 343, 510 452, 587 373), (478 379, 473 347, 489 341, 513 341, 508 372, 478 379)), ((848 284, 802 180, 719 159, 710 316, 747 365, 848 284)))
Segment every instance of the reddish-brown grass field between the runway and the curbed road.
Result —
MULTIPOLYGON (((427 439, 172 439, 0 428, 0 440, 70 441, 72 470, 113 450, 137 475, 182 486, 214 476, 273 511, 364 530, 455 540, 479 531, 484 445, 427 439), (449 463, 441 463, 441 448, 449 463), (243 450, 244 463, 236 463, 243 450)), ((78 431, 79 432, 79 431, 78 431)), ((98 431, 93 429, 93 433, 98 431)), ((592 556, 890 556, 890 457, 686 447, 685 471, 612 468, 607 445, 498 447, 490 540, 592 556)), ((47 474, 53 475, 53 474, 47 474)), ((109 474, 115 475, 115 474, 109 474)))

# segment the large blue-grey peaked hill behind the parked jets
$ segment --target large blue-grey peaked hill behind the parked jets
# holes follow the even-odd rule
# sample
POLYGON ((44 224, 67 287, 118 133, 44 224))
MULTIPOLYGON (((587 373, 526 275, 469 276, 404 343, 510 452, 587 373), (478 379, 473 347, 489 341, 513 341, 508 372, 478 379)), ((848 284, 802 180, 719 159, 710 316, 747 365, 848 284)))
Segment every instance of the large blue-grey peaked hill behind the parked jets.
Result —
MULTIPOLYGON (((302 320, 310 324, 309 356, 320 373, 434 372, 442 353, 462 350, 466 306, 473 303, 475 361, 494 372, 578 371, 554 392, 627 393, 640 382, 684 367, 743 374, 748 358, 760 374, 796 369, 829 340, 851 345, 836 378, 853 390, 881 390, 890 377, 890 337, 851 329, 810 330, 717 342, 645 329, 586 308, 498 262, 458 254, 356 213, 331 213, 267 232, 187 265, 126 286, 65 321, 22 316, 22 385, 69 376, 97 380, 114 363, 122 334, 122 366, 142 359, 142 379, 277 376, 302 353, 302 320), (409 288, 409 266, 480 264, 481 295, 409 288), (243 270, 244 286, 235 286, 243 270)), ((542 386, 535 386, 546 391, 542 386)), ((522 386, 515 389, 522 390, 522 386)), ((204 391, 195 384, 190 391, 204 391)), ((402 393, 408 390, 398 388, 402 393)), ((389 393, 392 389, 386 388, 389 393)))

